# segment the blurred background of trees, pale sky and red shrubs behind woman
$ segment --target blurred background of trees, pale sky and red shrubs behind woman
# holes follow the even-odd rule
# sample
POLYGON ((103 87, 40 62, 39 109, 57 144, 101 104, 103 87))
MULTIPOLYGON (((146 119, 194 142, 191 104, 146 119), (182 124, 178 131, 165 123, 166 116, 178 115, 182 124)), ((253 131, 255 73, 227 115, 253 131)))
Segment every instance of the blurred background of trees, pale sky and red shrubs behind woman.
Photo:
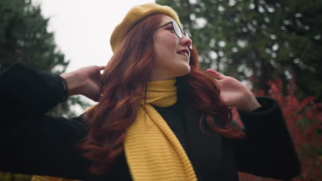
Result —
MULTIPOLYGON (((129 8, 147 2, 154 1, 1 0, 0 72, 17 61, 53 73, 105 65, 114 27, 129 8)), ((322 180, 322 0, 155 2, 178 12, 202 69, 279 101, 302 162, 294 180, 322 180)), ((74 117, 93 104, 69 97, 48 114, 74 117)), ((0 180, 30 176, 0 172, 0 180)), ((270 179, 240 173, 239 180, 270 179)))

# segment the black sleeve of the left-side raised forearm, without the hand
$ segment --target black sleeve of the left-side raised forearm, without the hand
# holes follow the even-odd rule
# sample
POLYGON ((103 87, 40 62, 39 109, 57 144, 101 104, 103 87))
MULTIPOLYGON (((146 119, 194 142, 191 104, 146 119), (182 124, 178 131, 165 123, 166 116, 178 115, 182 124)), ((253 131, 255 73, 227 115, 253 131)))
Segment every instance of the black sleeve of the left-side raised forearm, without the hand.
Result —
POLYGON ((57 75, 16 63, 0 76, 1 115, 10 118, 1 124, 41 117, 61 102, 65 93, 57 75))

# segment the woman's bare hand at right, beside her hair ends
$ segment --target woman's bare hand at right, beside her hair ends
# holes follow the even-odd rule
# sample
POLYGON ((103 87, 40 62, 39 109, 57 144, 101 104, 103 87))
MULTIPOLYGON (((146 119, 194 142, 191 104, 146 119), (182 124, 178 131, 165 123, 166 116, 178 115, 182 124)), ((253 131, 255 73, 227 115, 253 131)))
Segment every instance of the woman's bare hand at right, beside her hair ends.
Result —
POLYGON ((255 95, 235 78, 222 75, 213 69, 207 69, 207 72, 219 79, 217 82, 220 86, 220 97, 227 106, 246 111, 261 107, 255 95))

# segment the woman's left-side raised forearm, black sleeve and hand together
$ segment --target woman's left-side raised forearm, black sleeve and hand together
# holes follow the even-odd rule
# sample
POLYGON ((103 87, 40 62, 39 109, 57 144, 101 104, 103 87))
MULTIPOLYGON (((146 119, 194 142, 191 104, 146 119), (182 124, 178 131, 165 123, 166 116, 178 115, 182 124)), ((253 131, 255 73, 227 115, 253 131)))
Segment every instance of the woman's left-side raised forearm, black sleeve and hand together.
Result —
POLYGON ((21 63, 14 64, 0 76, 1 117, 11 121, 39 117, 69 95, 81 94, 97 101, 102 69, 84 67, 59 77, 21 63))

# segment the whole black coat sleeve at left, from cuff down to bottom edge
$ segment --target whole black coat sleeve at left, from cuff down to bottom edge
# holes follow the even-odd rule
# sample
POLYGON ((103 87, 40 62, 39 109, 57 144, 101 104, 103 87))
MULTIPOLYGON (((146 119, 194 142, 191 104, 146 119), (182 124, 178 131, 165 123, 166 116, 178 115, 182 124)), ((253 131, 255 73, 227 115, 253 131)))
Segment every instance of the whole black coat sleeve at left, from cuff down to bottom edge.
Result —
POLYGON ((0 76, 0 170, 84 179, 87 160, 74 149, 81 117, 46 116, 66 91, 60 77, 14 64, 0 76))

